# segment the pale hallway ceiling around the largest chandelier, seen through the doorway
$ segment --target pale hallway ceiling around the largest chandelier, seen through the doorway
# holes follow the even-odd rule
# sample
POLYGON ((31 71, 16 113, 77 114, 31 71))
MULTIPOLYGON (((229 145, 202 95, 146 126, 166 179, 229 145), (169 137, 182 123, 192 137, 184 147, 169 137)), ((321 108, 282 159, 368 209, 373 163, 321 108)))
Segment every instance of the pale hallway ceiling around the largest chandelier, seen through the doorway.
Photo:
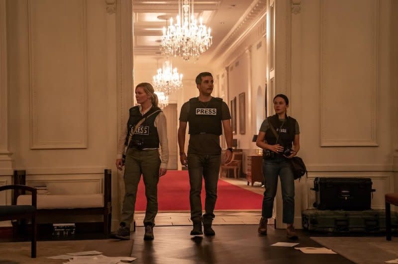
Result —
MULTIPOLYGON (((265 13, 266 0, 195 0, 194 11, 211 28, 213 44, 198 60, 207 64, 232 45, 250 24, 265 13)), ((134 57, 156 60, 166 17, 178 14, 178 0, 133 0, 134 57)), ((138 59, 138 58, 137 58, 138 59)), ((182 60, 181 60, 182 61, 182 60)))

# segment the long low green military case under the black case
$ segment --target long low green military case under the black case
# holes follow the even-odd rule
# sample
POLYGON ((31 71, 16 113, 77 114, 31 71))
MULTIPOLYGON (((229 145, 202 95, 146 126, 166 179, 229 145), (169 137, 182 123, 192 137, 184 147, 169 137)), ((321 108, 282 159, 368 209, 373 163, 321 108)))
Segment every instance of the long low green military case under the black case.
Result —
MULTIPOLYGON (((332 233, 380 233, 386 231, 383 209, 364 211, 307 209, 301 213, 304 230, 332 233)), ((391 224, 398 224, 398 213, 391 212, 391 224)))

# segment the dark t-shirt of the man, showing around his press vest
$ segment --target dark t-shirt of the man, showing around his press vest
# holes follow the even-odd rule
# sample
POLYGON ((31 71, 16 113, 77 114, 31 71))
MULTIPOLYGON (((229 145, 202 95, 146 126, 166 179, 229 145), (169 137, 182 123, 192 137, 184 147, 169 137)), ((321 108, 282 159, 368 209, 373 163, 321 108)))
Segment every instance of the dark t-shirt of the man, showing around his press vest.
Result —
MULTIPOLYGON (((215 100, 213 97, 211 100, 215 100)), ((190 113, 190 102, 186 102, 181 107, 180 121, 188 122, 190 113)), ((221 119, 231 119, 229 108, 225 102, 221 104, 221 119)), ((188 153, 201 155, 219 155, 221 154, 220 136, 215 134, 192 134, 188 144, 188 153)))

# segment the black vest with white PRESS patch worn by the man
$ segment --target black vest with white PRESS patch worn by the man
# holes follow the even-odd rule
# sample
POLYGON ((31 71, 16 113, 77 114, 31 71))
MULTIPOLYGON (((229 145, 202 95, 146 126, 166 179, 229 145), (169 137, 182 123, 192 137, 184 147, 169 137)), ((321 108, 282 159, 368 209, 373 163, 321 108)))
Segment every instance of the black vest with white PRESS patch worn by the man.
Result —
POLYGON ((188 114, 190 134, 222 134, 221 107, 222 99, 212 97, 208 102, 200 102, 197 97, 190 99, 188 114))

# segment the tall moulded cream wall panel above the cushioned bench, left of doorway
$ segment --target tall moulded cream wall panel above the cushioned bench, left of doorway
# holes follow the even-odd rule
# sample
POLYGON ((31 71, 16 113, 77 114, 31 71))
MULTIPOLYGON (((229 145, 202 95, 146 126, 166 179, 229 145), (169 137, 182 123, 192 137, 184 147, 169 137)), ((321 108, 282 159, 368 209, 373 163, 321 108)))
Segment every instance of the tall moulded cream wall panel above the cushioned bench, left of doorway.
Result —
POLYGON ((28 1, 32 149, 87 147, 86 13, 86 0, 28 1))

